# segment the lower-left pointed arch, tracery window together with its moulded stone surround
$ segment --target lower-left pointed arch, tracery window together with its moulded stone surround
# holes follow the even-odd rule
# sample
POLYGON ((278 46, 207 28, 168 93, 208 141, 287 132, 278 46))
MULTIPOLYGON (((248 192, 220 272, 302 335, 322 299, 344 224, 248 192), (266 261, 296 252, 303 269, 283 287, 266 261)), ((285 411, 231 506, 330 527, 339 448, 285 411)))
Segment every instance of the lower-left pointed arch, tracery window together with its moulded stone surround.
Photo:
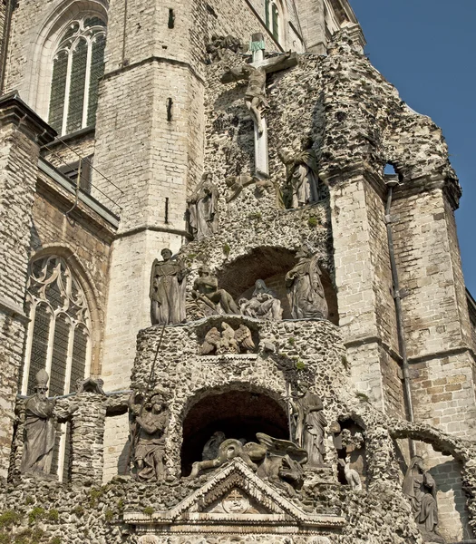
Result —
POLYGON ((51 394, 70 393, 78 378, 99 374, 103 319, 72 248, 49 246, 31 258, 25 299, 30 324, 21 393, 32 393, 41 368, 51 374, 51 394))

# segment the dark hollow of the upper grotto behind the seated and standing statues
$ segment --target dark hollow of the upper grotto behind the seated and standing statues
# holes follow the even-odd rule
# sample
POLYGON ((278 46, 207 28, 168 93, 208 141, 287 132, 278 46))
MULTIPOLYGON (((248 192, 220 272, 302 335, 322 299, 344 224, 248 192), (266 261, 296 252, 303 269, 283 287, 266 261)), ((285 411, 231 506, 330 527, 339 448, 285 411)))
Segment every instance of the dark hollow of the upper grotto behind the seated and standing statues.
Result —
MULTIPOLYGON (((297 263, 296 251, 279 247, 254 248, 247 255, 227 263, 219 272, 219 286, 226 289, 233 298, 250 298, 257 279, 264 279, 267 287, 277 292, 283 308, 283 319, 291 319, 291 310, 287 302, 285 276, 297 263)), ((321 267, 322 286, 329 308, 329 321, 338 325, 339 312, 337 296, 328 271, 321 267)))

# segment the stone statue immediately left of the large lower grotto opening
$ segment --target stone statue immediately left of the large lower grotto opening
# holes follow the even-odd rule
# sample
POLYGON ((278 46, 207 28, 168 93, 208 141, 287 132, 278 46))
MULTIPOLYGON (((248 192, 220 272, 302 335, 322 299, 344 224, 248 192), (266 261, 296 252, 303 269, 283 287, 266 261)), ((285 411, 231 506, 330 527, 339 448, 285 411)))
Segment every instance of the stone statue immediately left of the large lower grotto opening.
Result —
POLYGON ((136 402, 137 393, 129 399, 131 410, 131 448, 138 481, 162 481, 165 478, 165 435, 169 411, 160 394, 145 402, 136 402))

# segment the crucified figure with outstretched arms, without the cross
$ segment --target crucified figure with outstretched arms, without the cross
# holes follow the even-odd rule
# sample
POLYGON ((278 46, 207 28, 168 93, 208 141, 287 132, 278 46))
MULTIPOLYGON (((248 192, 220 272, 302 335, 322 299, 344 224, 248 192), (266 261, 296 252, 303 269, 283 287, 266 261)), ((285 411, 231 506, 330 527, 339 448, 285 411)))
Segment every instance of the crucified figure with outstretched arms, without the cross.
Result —
POLYGON ((257 67, 251 64, 243 64, 236 68, 225 68, 221 77, 221 83, 238 82, 241 79, 248 81, 248 89, 245 92, 245 104, 257 126, 257 131, 262 134, 264 131, 261 112, 267 107, 266 100, 266 79, 267 73, 272 72, 275 67, 285 62, 291 53, 278 55, 275 59, 268 59, 266 65, 257 67))

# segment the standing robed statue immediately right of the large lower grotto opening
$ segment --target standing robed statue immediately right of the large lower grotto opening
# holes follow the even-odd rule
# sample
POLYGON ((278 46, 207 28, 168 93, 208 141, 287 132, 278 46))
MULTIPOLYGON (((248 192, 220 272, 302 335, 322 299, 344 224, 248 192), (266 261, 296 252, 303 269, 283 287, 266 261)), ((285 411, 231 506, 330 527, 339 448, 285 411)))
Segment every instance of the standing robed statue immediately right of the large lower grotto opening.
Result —
POLYGON ((297 397, 293 403, 295 417, 296 443, 306 450, 309 467, 324 466, 325 427, 327 422, 321 397, 316 393, 306 393, 297 397))

